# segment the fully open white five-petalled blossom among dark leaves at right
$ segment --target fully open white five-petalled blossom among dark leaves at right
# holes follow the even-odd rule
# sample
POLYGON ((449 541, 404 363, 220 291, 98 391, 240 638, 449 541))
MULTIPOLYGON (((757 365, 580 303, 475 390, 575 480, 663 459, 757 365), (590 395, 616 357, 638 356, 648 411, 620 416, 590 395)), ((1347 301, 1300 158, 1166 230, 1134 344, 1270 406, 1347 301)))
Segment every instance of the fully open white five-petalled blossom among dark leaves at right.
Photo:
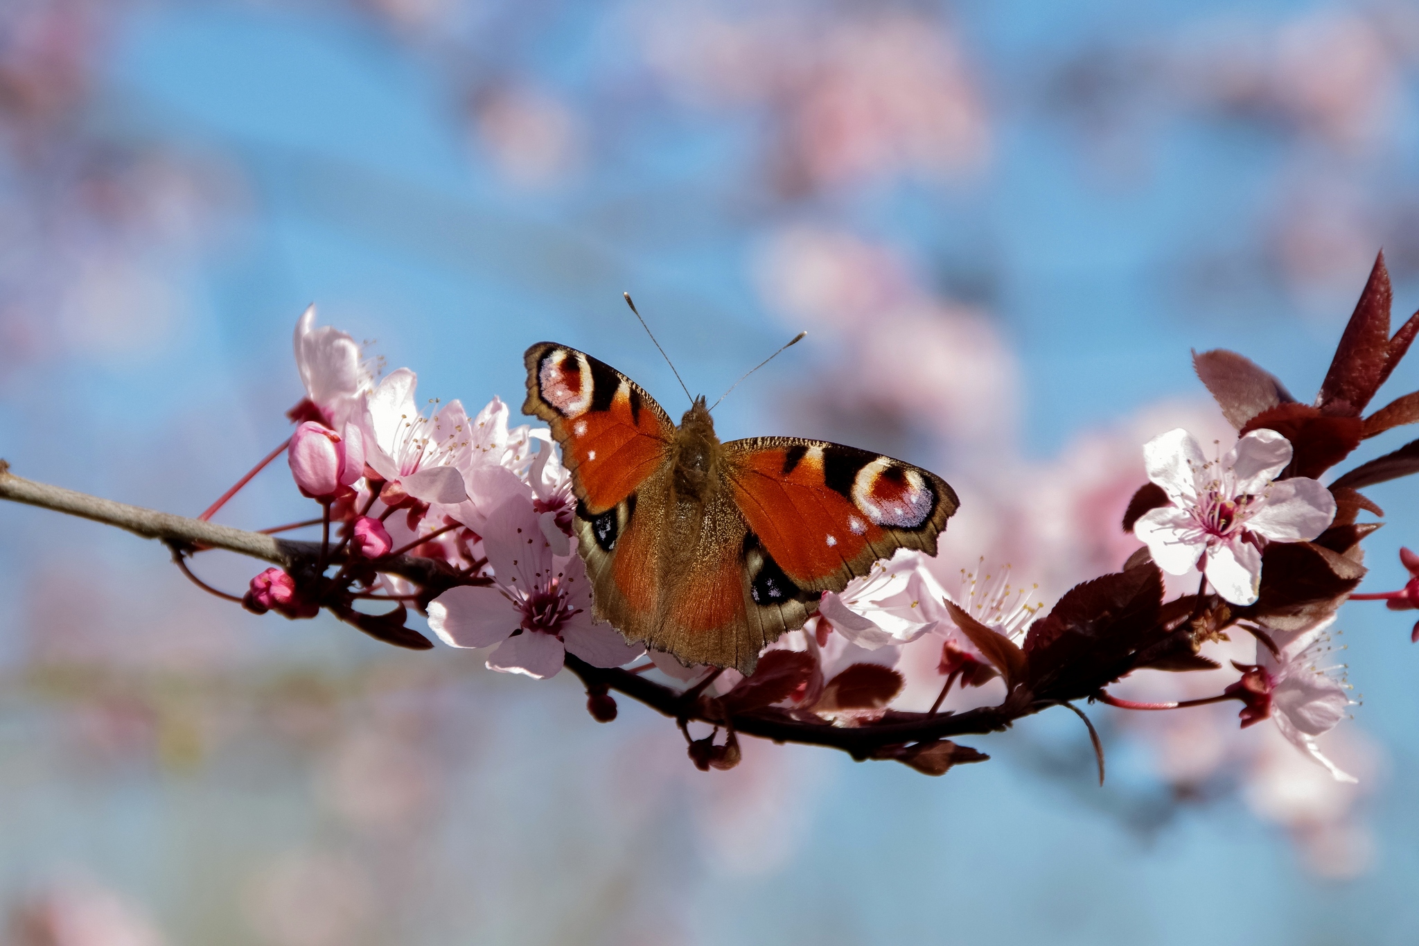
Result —
POLYGON ((1266 542, 1314 539, 1335 518, 1320 481, 1273 481, 1291 462, 1291 444, 1271 430, 1254 430, 1209 461, 1179 427, 1148 441, 1144 461, 1172 502, 1139 516, 1134 535, 1164 572, 1185 574, 1200 562, 1233 604, 1256 601, 1266 542))

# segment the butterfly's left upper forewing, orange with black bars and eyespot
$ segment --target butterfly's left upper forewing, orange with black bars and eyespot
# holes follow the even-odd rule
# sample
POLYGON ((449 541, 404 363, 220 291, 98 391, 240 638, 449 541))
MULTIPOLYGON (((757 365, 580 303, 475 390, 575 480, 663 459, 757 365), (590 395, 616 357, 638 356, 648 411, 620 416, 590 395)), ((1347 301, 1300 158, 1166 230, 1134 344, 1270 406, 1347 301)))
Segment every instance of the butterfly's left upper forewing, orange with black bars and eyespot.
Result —
POLYGON ((614 508, 668 460, 675 425, 636 382, 552 342, 526 350, 524 414, 548 421, 583 512, 614 508))

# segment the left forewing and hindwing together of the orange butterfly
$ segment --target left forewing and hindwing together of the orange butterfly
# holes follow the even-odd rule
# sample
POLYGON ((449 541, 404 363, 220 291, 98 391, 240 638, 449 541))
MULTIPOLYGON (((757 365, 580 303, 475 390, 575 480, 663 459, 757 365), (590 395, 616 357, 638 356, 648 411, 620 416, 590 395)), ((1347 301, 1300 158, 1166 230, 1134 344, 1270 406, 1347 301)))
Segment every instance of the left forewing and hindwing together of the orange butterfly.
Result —
POLYGON ((576 495, 575 529, 592 581, 593 616, 631 640, 657 616, 670 416, 610 365, 552 342, 526 350, 524 414, 545 420, 562 447, 576 495))

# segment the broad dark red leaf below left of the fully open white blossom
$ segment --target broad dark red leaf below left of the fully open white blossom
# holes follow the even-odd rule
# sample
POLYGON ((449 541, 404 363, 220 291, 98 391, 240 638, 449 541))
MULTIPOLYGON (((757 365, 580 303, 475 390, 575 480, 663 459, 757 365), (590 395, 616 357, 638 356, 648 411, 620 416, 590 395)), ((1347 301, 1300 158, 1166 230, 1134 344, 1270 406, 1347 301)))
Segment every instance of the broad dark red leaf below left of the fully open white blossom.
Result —
POLYGON ((1087 696, 1130 669, 1168 630, 1159 621, 1162 572, 1151 562, 1070 589, 1025 638, 1036 696, 1087 696))

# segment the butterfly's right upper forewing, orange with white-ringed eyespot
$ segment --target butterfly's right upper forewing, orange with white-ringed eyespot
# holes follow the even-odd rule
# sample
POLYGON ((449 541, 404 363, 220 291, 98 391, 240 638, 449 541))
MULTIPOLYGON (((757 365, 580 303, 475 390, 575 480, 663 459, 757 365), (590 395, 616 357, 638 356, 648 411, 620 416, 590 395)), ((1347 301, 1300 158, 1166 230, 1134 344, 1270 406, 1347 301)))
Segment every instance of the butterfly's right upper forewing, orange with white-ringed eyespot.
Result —
POLYGON ((935 555, 961 505, 934 472, 856 447, 755 437, 724 448, 739 512, 803 590, 840 591, 897 549, 935 555))

